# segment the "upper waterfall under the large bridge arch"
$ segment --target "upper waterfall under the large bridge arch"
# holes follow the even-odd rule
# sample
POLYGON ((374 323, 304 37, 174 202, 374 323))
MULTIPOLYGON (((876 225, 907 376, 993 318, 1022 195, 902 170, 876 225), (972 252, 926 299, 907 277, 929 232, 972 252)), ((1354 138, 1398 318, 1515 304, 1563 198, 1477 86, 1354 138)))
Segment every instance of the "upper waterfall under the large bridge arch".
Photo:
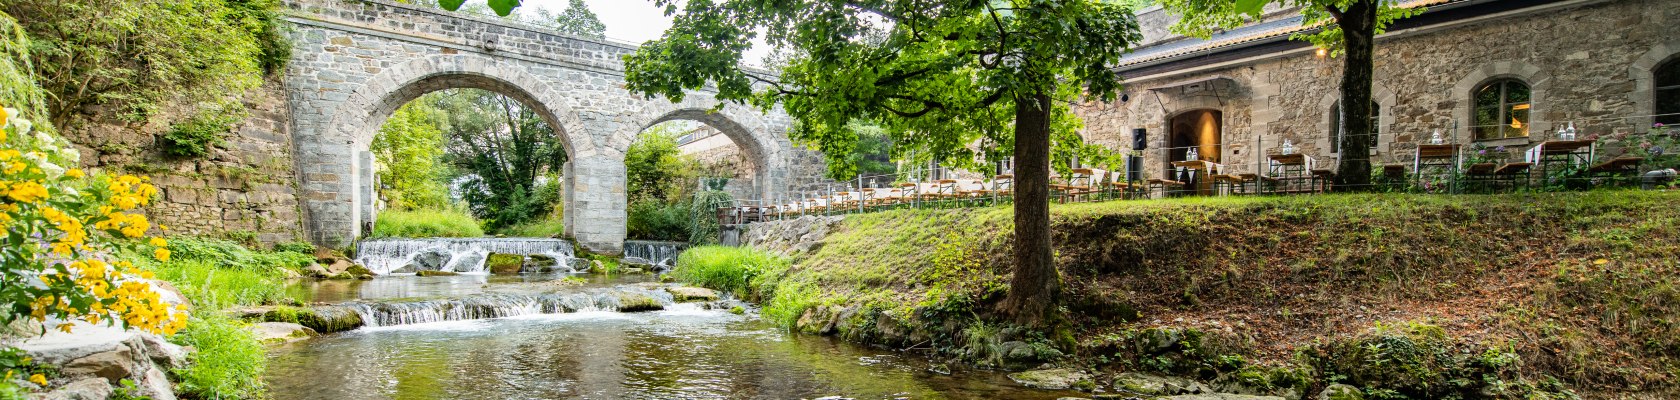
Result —
POLYGON ((571 242, 561 239, 368 239, 356 244, 356 264, 376 274, 437 269, 482 272, 492 252, 548 255, 558 269, 571 266, 571 242))

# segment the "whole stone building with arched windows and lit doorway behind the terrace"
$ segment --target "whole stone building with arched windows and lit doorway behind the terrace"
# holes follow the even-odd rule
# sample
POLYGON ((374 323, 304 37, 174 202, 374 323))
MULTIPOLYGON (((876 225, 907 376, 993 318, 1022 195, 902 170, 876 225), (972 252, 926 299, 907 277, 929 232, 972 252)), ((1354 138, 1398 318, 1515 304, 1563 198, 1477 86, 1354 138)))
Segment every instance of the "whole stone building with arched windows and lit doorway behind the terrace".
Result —
MULTIPOLYGON (((1581 136, 1680 121, 1680 2, 1413 0, 1426 12, 1376 42, 1378 165, 1410 165, 1416 143, 1520 151, 1574 123, 1581 136)), ((1131 150, 1144 133, 1144 178, 1196 148, 1252 173, 1287 139, 1334 170, 1342 61, 1302 40, 1295 10, 1210 39, 1174 35, 1174 15, 1139 13, 1144 40, 1116 67, 1126 91, 1077 108, 1090 143, 1131 150)))

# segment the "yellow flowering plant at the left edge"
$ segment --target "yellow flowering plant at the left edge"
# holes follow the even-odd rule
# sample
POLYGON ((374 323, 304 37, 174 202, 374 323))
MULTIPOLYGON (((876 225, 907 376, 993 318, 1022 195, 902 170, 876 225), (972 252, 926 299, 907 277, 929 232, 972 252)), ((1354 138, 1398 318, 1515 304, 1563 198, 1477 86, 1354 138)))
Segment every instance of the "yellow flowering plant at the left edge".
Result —
POLYGON ((143 176, 77 170, 69 143, 32 133, 15 109, 0 109, 0 303, 7 304, 0 323, 29 318, 62 331, 71 321, 160 334, 181 329, 186 309, 160 297, 151 272, 118 257, 168 261, 168 242, 146 237, 151 224, 138 212, 158 188, 143 176))

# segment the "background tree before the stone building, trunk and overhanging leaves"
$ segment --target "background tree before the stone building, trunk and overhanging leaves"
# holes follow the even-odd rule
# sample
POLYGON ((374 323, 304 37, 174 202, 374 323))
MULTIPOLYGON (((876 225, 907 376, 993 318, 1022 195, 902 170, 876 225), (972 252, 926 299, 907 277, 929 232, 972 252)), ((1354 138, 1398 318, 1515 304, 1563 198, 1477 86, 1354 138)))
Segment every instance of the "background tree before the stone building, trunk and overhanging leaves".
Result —
POLYGON ((1206 39, 1215 29, 1233 29, 1262 17, 1267 5, 1292 7, 1302 15, 1302 24, 1315 27, 1295 39, 1329 49, 1342 57, 1341 99, 1341 165, 1336 168, 1336 187, 1362 190, 1371 183, 1371 153, 1352 151, 1371 148, 1376 139, 1371 126, 1371 71, 1376 35, 1394 20, 1423 12, 1394 7, 1393 0, 1161 0, 1161 5, 1183 18, 1174 32, 1206 39))

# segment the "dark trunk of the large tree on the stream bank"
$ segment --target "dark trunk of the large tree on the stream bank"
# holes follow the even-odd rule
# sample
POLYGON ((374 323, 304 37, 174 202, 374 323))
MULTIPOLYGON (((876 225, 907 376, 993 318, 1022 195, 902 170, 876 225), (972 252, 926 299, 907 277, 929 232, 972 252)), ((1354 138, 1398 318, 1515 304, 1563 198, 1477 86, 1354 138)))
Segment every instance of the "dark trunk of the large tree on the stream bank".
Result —
POLYGON ((1038 92, 1015 99, 1015 277, 1003 309, 1042 326, 1060 284, 1050 254, 1050 96, 1038 92))

